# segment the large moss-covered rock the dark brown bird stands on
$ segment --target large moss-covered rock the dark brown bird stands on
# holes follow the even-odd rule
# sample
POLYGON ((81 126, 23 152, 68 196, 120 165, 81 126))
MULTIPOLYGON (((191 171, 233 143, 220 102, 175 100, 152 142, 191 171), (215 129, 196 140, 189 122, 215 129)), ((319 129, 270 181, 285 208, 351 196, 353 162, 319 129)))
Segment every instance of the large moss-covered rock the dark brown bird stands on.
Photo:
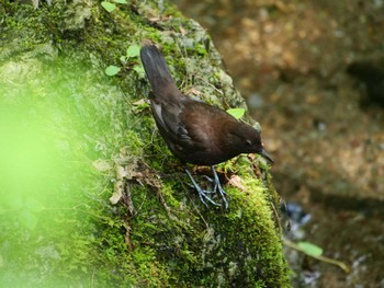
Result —
POLYGON ((244 187, 206 208, 122 57, 150 38, 185 93, 246 107, 210 36, 166 1, 115 5, 0 7, 0 286, 289 287, 268 166, 221 164, 244 187))

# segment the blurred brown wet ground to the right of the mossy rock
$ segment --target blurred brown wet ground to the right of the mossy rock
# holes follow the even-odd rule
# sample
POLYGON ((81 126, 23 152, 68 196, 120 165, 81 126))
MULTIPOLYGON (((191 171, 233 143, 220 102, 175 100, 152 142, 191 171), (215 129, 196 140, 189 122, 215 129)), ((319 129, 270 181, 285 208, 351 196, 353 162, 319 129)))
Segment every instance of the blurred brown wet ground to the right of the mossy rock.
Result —
POLYGON ((384 64, 384 1, 174 2, 210 31, 261 124, 279 193, 310 215, 291 237, 351 268, 296 254, 293 286, 384 287, 384 107, 347 73, 384 64))

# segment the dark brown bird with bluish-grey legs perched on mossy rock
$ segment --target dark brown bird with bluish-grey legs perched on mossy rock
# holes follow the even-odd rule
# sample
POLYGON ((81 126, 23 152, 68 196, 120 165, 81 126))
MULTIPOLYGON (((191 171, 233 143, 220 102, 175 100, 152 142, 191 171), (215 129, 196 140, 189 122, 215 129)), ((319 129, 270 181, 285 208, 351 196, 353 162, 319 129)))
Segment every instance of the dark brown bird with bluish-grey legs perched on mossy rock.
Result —
POLYGON ((227 208, 214 165, 240 153, 258 153, 273 162, 262 148, 260 134, 225 111, 182 94, 160 51, 149 41, 142 43, 140 58, 151 87, 150 107, 160 135, 183 165, 211 166, 214 189, 204 191, 184 165, 201 201, 205 206, 204 199, 217 205, 207 194, 218 192, 227 208))

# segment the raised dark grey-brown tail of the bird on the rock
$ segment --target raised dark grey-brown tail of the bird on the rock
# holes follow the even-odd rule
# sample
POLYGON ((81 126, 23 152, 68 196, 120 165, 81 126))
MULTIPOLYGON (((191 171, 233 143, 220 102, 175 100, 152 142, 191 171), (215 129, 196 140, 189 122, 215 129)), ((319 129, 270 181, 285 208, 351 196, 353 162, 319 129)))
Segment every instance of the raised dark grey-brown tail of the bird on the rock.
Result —
POLYGON ((168 89, 177 89, 160 51, 149 41, 143 41, 140 58, 155 95, 163 95, 168 89))

